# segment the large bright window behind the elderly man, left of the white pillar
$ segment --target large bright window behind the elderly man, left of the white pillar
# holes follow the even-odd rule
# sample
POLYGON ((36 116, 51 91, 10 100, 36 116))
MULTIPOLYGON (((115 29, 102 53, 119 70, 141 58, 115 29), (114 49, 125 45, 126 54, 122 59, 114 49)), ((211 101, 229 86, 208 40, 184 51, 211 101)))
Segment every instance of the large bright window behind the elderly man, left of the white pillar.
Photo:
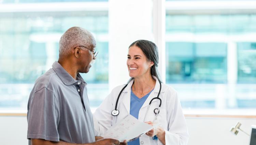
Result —
MULTIPOLYGON (((35 79, 58 60, 59 39, 73 26, 95 35, 99 51, 96 63, 82 76, 89 83, 90 100, 98 99, 95 92, 105 97, 108 93, 108 12, 0 13, 0 110, 27 109, 35 79)), ((98 105, 97 101, 91 103, 92 107, 98 105)))

